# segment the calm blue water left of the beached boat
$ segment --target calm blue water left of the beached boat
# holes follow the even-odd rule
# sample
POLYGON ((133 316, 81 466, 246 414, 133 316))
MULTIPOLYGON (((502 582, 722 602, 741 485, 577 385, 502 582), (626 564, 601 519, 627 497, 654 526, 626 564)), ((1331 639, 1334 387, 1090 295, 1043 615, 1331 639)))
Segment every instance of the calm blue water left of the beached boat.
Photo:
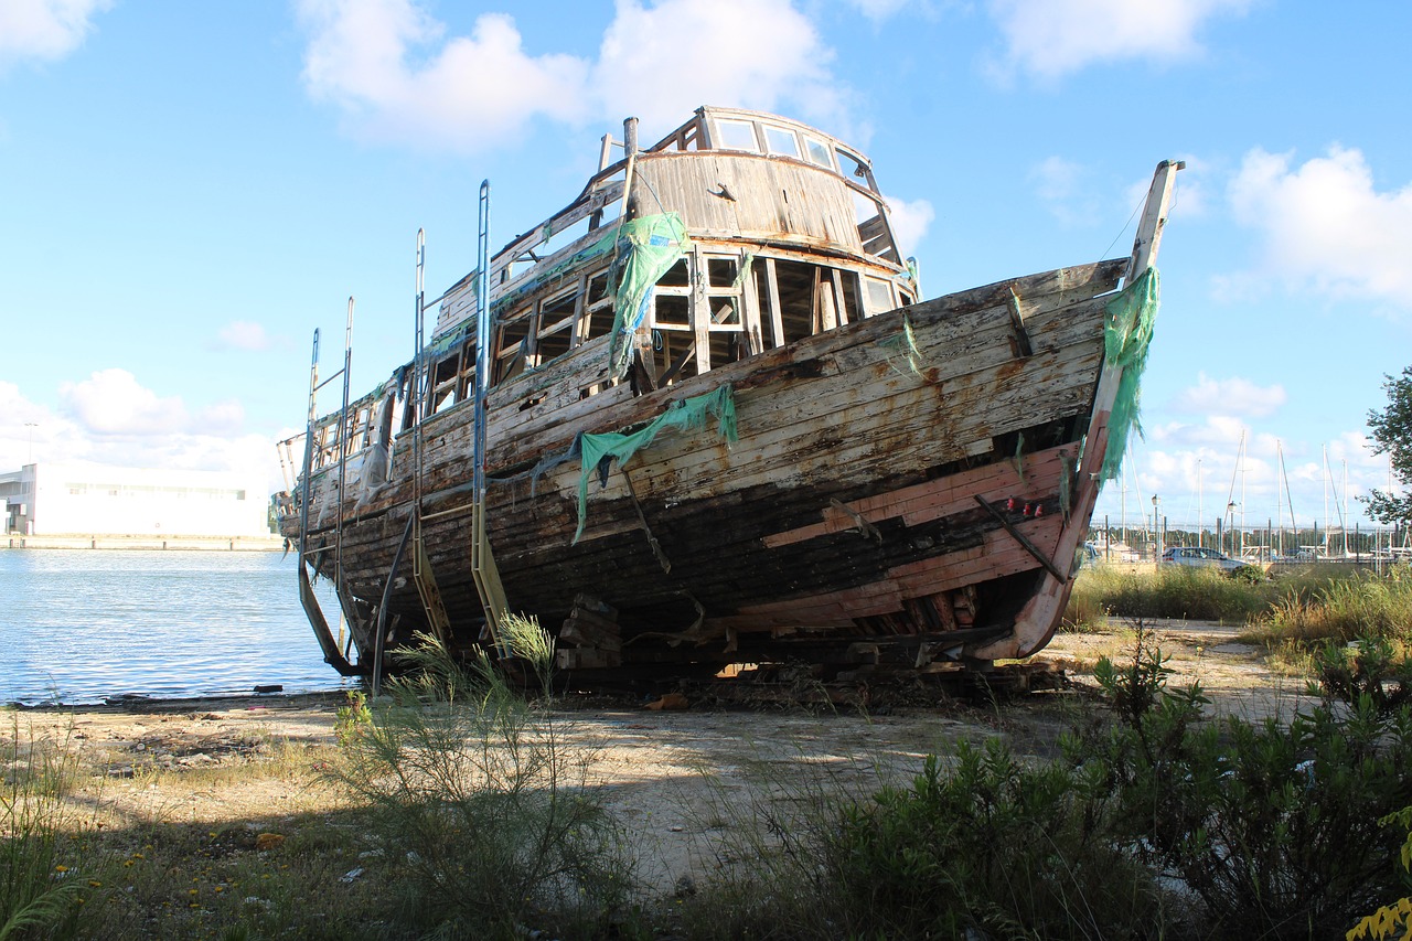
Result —
POLYGON ((0 702, 346 685, 280 552, 0 550, 0 702))

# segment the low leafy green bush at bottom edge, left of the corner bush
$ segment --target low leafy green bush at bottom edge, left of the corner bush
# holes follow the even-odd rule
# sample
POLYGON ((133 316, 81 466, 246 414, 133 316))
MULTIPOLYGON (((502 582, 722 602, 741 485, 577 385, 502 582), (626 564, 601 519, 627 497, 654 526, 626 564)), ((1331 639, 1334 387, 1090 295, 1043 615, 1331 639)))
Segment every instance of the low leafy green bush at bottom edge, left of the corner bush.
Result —
POLYGON ((926 759, 911 787, 847 808, 822 900, 840 937, 1158 937, 1152 875, 1108 838, 1113 804, 998 739, 926 759))

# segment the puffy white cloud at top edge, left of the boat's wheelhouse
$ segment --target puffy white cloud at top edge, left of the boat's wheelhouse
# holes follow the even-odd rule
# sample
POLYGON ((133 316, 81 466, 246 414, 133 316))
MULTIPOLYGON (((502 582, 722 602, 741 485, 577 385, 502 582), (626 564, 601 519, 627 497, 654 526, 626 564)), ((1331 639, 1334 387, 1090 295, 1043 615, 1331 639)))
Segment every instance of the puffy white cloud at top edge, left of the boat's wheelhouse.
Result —
POLYGON ((582 117, 587 64, 525 54, 507 14, 449 40, 414 0, 302 0, 299 14, 312 32, 308 89, 340 105, 360 136, 473 151, 541 114, 582 117))

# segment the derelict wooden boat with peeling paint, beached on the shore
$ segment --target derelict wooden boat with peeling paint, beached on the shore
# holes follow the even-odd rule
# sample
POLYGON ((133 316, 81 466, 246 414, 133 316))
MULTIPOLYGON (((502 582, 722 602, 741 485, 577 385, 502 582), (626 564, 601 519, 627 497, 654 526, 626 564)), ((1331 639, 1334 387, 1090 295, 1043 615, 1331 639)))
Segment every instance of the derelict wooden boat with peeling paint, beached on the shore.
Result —
POLYGON ((281 526, 326 660, 493 646, 505 612, 561 668, 618 675, 1043 647, 1123 452, 1180 164, 1131 257, 922 301, 847 144, 720 107, 624 138, 494 257, 483 188, 477 267, 432 301, 418 236, 429 343, 354 401, 346 349, 323 417, 315 333, 281 526))

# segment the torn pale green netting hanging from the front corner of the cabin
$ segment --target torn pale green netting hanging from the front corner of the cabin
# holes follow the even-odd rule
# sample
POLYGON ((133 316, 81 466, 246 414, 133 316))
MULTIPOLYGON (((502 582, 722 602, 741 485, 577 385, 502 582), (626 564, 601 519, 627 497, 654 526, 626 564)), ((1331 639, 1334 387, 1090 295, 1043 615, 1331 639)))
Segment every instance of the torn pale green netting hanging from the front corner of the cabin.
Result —
POLYGON ((621 277, 613 301, 611 376, 627 374, 633 365, 633 338, 647 318, 652 285, 686 256, 689 246, 686 225, 675 212, 630 219, 618 229, 613 267, 621 277))

